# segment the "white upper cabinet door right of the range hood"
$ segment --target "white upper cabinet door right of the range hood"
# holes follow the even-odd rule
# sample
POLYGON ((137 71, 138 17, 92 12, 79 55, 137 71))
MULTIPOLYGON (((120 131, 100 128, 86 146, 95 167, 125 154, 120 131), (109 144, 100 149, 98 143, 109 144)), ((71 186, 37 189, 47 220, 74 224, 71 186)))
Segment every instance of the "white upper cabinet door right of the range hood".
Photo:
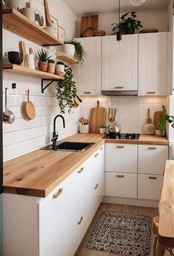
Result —
POLYGON ((167 32, 138 35, 138 95, 167 95, 167 32))

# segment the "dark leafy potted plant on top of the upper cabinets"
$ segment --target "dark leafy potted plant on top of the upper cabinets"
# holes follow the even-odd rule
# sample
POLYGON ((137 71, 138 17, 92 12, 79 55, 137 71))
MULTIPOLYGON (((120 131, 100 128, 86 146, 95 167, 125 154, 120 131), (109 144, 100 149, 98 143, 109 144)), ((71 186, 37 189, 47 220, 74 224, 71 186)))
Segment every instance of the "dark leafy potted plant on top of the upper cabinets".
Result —
POLYGON ((113 32, 116 31, 116 28, 118 28, 118 31, 121 32, 121 34, 130 34, 135 32, 135 28, 138 29, 138 27, 142 28, 141 22, 136 18, 136 13, 125 13, 121 16, 121 21, 119 23, 113 23, 113 32))

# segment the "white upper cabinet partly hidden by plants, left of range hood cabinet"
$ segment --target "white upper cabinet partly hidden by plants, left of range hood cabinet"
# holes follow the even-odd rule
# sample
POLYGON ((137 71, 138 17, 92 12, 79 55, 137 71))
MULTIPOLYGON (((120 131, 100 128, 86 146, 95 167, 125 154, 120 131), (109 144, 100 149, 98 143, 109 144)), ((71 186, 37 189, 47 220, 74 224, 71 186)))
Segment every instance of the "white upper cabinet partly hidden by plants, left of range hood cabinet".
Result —
POLYGON ((77 39, 87 53, 84 63, 73 67, 79 78, 79 95, 101 95, 101 37, 77 39))

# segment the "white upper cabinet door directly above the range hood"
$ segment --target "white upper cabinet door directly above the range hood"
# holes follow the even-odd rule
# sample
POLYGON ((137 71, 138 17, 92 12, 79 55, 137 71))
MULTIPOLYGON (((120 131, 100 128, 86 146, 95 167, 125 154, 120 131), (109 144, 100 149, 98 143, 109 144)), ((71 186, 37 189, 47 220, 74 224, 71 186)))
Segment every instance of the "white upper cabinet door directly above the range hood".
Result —
POLYGON ((102 90, 138 90, 138 35, 122 41, 118 49, 116 36, 102 37, 102 90))

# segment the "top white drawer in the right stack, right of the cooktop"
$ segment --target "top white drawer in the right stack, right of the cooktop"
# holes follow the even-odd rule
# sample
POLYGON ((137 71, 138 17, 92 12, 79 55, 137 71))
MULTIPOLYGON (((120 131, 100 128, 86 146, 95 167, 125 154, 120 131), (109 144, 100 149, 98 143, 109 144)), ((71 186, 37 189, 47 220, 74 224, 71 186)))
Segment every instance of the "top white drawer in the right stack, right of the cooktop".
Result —
POLYGON ((168 146, 138 145, 138 173, 163 175, 168 146))

